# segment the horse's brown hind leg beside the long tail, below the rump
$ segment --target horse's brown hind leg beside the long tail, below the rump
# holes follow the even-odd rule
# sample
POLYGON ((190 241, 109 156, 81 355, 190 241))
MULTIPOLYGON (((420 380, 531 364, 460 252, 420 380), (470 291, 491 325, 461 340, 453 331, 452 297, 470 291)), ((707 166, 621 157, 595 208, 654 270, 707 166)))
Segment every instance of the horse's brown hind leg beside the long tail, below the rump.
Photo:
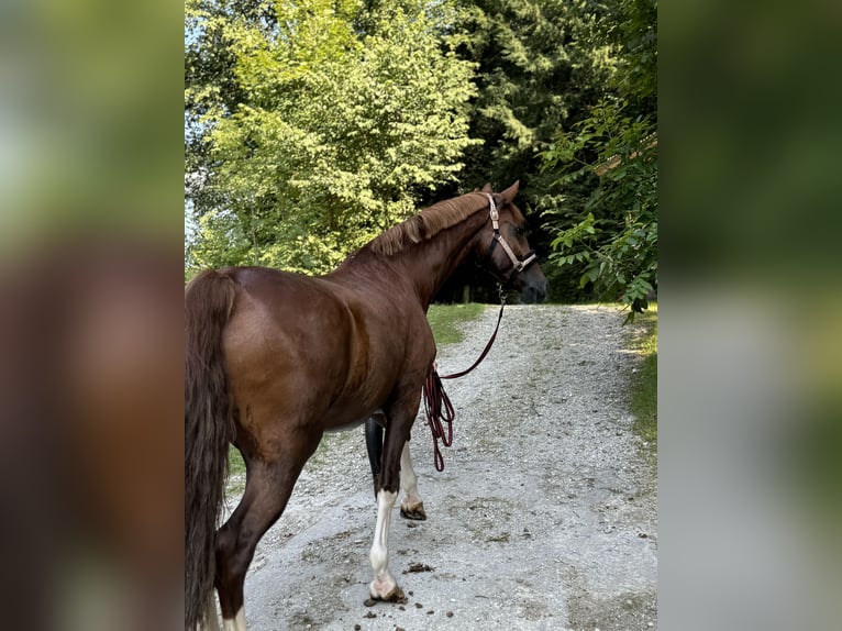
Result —
POLYGON ((307 458, 315 450, 308 444, 298 457, 288 455, 274 463, 247 463, 245 492, 228 522, 217 533, 217 591, 224 631, 245 631, 243 585, 257 542, 287 506, 292 487, 307 458))

